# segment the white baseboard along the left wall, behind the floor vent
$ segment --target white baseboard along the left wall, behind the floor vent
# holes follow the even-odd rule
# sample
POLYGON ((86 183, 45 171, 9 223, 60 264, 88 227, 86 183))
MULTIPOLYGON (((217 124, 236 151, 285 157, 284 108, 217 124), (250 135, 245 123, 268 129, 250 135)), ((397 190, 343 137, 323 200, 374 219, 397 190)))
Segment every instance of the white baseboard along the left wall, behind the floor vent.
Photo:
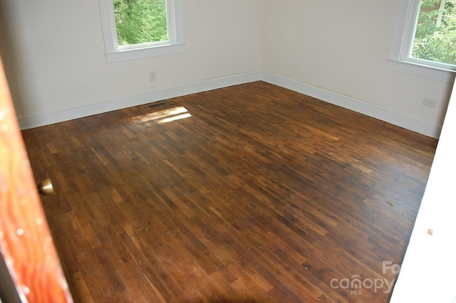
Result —
POLYGON ((123 108, 136 105, 143 105, 150 102, 181 97, 184 95, 195 94, 197 92, 216 90, 217 88, 250 83, 259 80, 261 80, 261 72, 230 75, 198 83, 191 83, 189 85, 182 85, 180 87, 169 87, 162 90, 155 90, 140 95, 119 97, 113 100, 106 100, 103 102, 96 102, 28 117, 18 117, 18 122, 21 129, 31 129, 33 127, 41 127, 48 124, 88 117, 91 115, 98 115, 103 112, 121 110, 123 108))

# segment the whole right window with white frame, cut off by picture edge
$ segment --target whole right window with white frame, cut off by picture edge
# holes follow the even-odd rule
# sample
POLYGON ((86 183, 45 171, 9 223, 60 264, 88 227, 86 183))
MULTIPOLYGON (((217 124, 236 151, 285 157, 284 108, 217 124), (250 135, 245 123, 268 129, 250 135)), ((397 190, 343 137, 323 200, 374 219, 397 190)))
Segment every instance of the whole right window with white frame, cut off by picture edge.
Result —
POLYGON ((390 68, 452 82, 456 70, 456 0, 401 0, 390 68))

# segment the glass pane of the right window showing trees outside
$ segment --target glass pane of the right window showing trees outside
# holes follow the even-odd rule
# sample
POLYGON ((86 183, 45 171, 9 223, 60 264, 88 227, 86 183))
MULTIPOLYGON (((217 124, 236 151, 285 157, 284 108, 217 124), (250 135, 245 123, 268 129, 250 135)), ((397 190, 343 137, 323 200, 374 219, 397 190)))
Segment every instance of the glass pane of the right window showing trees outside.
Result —
POLYGON ((411 57, 456 64, 456 0, 422 0, 411 57))

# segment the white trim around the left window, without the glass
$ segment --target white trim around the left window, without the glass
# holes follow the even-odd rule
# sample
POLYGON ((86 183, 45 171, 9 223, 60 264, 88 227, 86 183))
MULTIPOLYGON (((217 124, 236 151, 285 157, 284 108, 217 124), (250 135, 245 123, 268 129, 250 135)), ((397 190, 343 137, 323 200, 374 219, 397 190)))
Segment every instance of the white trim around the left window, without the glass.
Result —
POLYGON ((180 13, 181 0, 166 0, 166 3, 168 8, 167 26, 169 41, 143 43, 135 46, 119 46, 115 27, 113 0, 98 0, 106 62, 119 62, 182 52, 184 50, 184 43, 180 13))

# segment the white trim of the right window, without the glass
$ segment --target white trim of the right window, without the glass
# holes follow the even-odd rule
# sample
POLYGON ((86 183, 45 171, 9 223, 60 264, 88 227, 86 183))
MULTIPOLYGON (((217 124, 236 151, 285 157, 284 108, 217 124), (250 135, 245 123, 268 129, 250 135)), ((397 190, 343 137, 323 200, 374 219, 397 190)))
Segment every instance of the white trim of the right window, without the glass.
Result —
POLYGON ((420 0, 400 0, 388 68, 400 73, 453 83, 455 70, 427 65, 426 60, 408 57, 413 33, 415 33, 419 3, 420 0))

